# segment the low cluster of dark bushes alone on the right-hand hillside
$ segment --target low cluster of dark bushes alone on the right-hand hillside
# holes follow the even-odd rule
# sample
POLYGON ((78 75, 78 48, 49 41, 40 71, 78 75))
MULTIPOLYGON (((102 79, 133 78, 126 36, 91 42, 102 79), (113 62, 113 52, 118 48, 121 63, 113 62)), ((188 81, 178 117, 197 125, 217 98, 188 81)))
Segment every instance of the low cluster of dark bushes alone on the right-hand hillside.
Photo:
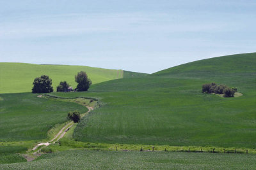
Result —
POLYGON ((202 85, 203 93, 223 94, 224 97, 234 97, 237 92, 236 87, 228 87, 227 85, 217 85, 216 83, 206 83, 202 85))

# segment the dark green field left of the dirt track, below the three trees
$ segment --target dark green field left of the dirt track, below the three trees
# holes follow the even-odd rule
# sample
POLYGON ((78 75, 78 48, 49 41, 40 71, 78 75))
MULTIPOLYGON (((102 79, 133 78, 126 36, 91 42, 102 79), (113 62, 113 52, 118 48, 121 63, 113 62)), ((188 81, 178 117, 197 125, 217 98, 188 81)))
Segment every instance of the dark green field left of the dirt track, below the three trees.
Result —
POLYGON ((47 131, 67 121, 68 111, 85 113, 76 103, 52 101, 38 94, 0 94, 0 141, 29 141, 47 138, 47 131), (3 130, 2 130, 3 129, 3 130))

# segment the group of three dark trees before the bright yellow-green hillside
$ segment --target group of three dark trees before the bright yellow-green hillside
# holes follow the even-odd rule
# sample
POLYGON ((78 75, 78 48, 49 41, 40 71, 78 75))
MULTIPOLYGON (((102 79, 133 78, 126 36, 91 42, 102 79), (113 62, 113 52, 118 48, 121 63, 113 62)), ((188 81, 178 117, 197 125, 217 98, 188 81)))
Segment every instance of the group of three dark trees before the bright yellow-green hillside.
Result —
MULTIPOLYGON (((92 81, 88 78, 84 71, 77 73, 75 76, 75 81, 77 82, 77 91, 87 91, 92 85, 92 81)), ((67 92, 68 90, 67 81, 61 81, 60 85, 57 87, 57 92, 67 92)), ((35 78, 33 82, 33 93, 50 93, 53 92, 52 80, 49 76, 43 75, 41 77, 35 78)))

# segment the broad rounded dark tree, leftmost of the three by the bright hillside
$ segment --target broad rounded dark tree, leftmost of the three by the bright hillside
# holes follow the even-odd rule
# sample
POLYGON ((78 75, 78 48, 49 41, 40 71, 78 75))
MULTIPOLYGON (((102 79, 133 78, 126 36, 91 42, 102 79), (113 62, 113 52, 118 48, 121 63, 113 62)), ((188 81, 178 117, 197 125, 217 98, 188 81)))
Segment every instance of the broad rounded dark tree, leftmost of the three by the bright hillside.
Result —
POLYGON ((35 78, 33 82, 33 93, 50 93, 53 92, 52 80, 49 76, 43 75, 35 78))

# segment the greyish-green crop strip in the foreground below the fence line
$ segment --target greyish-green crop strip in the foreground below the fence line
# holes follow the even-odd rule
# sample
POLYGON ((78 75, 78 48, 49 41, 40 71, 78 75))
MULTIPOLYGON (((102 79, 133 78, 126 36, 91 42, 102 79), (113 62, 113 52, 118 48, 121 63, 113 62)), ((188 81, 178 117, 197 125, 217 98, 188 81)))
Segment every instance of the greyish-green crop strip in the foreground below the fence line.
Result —
POLYGON ((255 169, 250 154, 106 152, 72 150, 42 155, 33 162, 0 164, 0 169, 255 169))

